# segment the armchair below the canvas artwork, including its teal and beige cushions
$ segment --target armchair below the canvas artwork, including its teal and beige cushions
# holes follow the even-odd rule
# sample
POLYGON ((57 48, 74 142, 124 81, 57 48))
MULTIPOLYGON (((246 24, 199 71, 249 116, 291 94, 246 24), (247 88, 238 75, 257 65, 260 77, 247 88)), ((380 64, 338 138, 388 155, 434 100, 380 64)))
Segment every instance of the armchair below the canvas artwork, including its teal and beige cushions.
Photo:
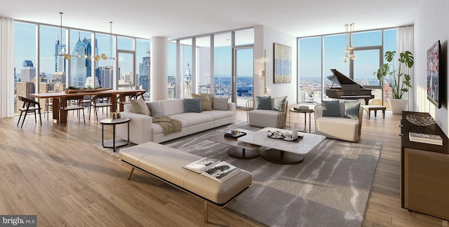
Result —
POLYGON ((261 128, 286 127, 287 97, 256 97, 246 102, 246 121, 248 125, 261 128))

